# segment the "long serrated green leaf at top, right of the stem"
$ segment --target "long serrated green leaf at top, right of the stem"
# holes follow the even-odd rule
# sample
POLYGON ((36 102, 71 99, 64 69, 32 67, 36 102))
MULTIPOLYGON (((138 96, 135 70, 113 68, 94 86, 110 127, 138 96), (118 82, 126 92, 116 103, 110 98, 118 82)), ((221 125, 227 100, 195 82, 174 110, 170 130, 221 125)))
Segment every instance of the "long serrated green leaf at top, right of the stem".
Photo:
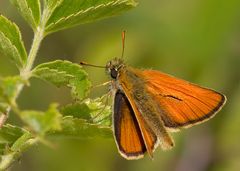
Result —
POLYGON ((46 33, 118 15, 136 6, 134 0, 48 0, 46 33))

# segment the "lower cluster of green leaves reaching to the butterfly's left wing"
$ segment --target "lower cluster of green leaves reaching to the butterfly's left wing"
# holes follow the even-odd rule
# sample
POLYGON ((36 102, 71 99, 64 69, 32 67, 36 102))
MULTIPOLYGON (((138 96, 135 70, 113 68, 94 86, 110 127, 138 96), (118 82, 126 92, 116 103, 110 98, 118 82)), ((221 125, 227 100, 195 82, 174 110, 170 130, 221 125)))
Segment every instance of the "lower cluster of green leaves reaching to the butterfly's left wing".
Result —
MULTIPOLYGON (((0 129, 0 170, 9 167, 12 162, 21 156, 22 152, 33 144, 38 141, 45 141, 42 140, 44 136, 74 139, 96 136, 112 137, 108 118, 101 119, 101 122, 92 123, 96 112, 100 111, 102 115, 109 116, 109 107, 102 110, 102 106, 101 98, 97 98, 95 100, 87 99, 81 104, 65 106, 61 110, 63 116, 58 111, 56 104, 50 105, 46 112, 22 111, 20 117, 28 125, 31 132, 9 124, 0 129), (86 115, 88 115, 87 118, 86 115)), ((102 117, 100 116, 100 118, 102 117)))

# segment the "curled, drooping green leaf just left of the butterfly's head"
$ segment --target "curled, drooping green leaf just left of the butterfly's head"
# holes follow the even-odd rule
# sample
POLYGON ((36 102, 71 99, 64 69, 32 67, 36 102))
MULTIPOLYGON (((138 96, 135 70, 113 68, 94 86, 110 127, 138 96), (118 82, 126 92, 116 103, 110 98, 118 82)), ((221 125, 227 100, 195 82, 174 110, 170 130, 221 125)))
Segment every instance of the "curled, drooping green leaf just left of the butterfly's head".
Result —
POLYGON ((68 86, 72 95, 78 99, 86 97, 91 86, 87 73, 78 64, 56 60, 38 65, 33 76, 46 80, 57 87, 68 86))

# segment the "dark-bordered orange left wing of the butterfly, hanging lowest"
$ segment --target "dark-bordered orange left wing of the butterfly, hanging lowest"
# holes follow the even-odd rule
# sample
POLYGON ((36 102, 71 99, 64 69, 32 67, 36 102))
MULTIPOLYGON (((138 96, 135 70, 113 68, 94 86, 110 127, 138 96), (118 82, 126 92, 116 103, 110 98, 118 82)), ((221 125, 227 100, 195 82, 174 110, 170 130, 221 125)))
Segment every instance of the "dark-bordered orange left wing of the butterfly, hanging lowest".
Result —
POLYGON ((138 159, 149 149, 153 151, 155 148, 157 137, 144 126, 141 119, 137 120, 128 99, 120 91, 115 94, 113 123, 115 140, 123 157, 138 159))

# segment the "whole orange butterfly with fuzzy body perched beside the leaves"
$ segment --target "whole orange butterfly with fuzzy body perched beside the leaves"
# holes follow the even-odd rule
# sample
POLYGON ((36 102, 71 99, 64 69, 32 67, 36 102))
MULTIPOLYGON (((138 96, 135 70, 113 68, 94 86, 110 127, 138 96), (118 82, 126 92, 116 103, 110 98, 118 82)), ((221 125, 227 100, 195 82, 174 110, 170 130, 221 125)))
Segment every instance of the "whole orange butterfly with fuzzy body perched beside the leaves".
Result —
POLYGON ((214 90, 159 71, 127 66, 120 58, 105 68, 112 78, 114 137, 126 159, 139 159, 145 152, 152 157, 158 145, 172 148, 169 132, 207 121, 226 101, 214 90))

